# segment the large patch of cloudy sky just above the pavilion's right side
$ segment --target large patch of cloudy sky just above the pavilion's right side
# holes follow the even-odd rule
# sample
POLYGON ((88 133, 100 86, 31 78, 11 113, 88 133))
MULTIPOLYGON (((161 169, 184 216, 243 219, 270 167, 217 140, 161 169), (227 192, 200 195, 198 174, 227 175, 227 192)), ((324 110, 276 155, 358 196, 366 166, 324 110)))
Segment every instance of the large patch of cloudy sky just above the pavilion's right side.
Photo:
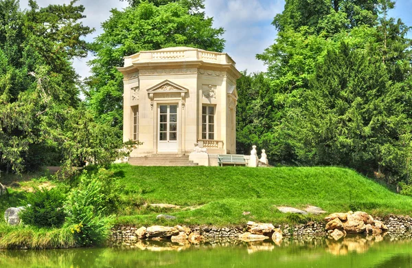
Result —
POLYGON ((224 27, 227 52, 239 70, 265 71, 255 58, 273 44, 276 30, 273 18, 282 12, 284 1, 268 0, 206 0, 205 12, 214 17, 214 27, 224 27))

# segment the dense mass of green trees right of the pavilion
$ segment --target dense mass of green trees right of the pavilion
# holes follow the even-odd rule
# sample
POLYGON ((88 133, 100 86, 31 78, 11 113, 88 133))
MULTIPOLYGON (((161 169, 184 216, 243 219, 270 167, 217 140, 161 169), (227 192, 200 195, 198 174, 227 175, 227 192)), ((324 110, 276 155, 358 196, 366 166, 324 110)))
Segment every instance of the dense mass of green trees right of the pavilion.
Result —
POLYGON ((258 55, 268 71, 240 80, 240 150, 249 137, 272 163, 347 166, 393 185, 409 179, 409 27, 389 18, 389 0, 310 3, 286 1, 275 43, 258 55))

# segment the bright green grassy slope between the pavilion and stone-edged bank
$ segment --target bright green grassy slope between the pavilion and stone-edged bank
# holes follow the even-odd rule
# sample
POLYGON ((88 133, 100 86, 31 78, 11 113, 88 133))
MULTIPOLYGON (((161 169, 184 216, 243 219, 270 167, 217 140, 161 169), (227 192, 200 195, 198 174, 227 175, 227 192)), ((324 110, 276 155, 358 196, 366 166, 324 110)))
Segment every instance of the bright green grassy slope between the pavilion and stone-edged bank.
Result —
MULTIPOLYGON (((317 205, 328 212, 364 210, 378 215, 411 214, 412 199, 390 192, 353 170, 334 167, 137 167, 114 165, 126 194, 133 203, 203 205, 192 211, 165 211, 176 221, 159 222, 159 211, 124 210, 115 223, 146 224, 239 224, 273 223, 294 219, 275 205, 304 208, 317 205), (251 212, 242 215, 242 212, 251 212), (128 214, 128 215, 127 215, 128 214)), ((316 217, 312 217, 316 219, 316 217)), ((320 218, 319 218, 320 219, 320 218)))

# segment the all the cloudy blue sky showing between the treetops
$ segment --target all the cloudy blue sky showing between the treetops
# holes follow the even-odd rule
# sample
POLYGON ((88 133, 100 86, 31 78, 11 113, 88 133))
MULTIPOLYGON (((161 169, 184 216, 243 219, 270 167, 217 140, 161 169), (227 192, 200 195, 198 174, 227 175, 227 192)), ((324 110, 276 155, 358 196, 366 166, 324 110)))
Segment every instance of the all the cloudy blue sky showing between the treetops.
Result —
MULTIPOLYGON (((41 6, 69 1, 37 0, 41 6)), ((27 8, 27 2, 20 0, 21 7, 27 8)), ((119 0, 80 0, 78 3, 85 7, 87 18, 84 19, 84 25, 96 29, 96 32, 87 36, 87 41, 93 41, 102 32, 100 23, 108 19, 112 8, 127 6, 126 2, 119 0)), ((214 26, 225 28, 225 52, 236 61, 236 67, 241 71, 264 71, 266 67, 255 59, 255 55, 273 44, 276 30, 271 22, 277 13, 282 12, 284 0, 205 0, 205 5, 207 16, 214 17, 214 26)), ((391 16, 400 17, 404 23, 412 26, 412 0, 398 0, 391 16)), ((409 36, 412 36, 412 32, 409 36)), ((90 59, 91 56, 74 60, 73 65, 80 76, 89 76, 87 61, 90 59)))

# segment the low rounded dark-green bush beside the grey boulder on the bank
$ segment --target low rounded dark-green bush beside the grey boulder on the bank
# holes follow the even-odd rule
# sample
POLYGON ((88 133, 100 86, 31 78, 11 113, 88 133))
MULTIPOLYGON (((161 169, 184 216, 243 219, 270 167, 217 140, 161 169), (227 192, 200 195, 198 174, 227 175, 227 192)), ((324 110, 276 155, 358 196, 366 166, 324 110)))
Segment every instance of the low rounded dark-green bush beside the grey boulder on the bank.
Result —
POLYGON ((27 193, 27 206, 20 213, 23 223, 36 227, 60 227, 65 222, 63 202, 65 194, 57 188, 27 193))

